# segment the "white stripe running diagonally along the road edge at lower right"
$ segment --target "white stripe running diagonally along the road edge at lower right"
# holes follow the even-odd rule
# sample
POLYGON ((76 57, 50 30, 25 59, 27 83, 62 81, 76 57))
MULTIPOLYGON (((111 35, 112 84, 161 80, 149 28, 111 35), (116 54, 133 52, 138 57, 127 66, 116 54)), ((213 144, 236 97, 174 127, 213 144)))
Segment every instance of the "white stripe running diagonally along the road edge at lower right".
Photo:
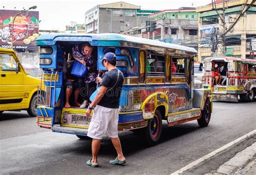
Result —
POLYGON ((208 153, 208 155, 205 155, 205 156, 203 156, 203 157, 197 159, 196 161, 194 161, 194 162, 192 162, 192 163, 186 165, 185 167, 179 169, 178 171, 171 173, 171 175, 178 175, 178 174, 183 173, 184 171, 190 170, 190 169, 192 169, 194 166, 197 166, 198 164, 200 164, 200 163, 206 161, 207 159, 210 159, 210 158, 212 158, 213 156, 218 155, 219 153, 225 151, 226 149, 230 148, 230 147, 233 146, 234 144, 238 144, 238 143, 244 141, 246 138, 252 137, 252 136, 255 135, 255 134, 256 134, 256 130, 253 130, 253 131, 247 133, 246 135, 241 136, 241 137, 235 139, 234 141, 232 141, 232 142, 230 142, 230 143, 228 143, 228 144, 222 146, 221 148, 219 148, 219 149, 217 149, 217 150, 214 150, 214 151, 212 151, 211 153, 208 153))

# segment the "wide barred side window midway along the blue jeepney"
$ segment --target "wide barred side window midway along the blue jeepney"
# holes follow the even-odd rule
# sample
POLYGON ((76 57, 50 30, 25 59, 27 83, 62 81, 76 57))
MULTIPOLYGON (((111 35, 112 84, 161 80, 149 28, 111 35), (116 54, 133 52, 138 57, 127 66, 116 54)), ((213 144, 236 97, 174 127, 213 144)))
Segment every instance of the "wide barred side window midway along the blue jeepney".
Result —
POLYGON ((147 54, 147 75, 164 76, 165 57, 162 55, 147 54))

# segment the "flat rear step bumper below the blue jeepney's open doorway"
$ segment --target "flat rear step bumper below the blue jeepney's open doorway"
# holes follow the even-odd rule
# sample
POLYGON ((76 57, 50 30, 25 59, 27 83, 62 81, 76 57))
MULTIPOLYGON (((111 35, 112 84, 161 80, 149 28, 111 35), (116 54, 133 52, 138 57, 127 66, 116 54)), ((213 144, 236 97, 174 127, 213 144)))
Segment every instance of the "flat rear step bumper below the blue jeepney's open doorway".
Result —
POLYGON ((61 132, 66 134, 75 134, 75 135, 87 135, 88 129, 85 128, 73 128, 73 127, 63 127, 60 125, 52 127, 53 132, 61 132))

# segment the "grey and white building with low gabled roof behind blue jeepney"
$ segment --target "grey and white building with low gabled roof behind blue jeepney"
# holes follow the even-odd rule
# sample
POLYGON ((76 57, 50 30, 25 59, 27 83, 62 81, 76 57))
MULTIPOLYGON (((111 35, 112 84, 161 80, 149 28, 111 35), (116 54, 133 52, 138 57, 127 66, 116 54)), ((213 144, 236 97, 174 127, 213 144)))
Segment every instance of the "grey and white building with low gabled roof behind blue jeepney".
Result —
POLYGON ((97 5, 85 12, 85 33, 122 33, 137 26, 140 6, 125 2, 97 5))

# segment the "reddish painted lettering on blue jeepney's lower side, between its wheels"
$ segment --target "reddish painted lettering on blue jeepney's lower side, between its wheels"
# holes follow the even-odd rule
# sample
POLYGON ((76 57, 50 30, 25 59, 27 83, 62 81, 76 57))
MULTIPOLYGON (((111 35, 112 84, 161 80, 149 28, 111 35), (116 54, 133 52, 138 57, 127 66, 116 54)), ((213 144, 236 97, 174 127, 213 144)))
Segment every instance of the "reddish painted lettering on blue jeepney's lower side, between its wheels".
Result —
POLYGON ((172 112, 177 112, 179 109, 186 107, 186 98, 172 92, 169 96, 169 102, 172 102, 172 112))

